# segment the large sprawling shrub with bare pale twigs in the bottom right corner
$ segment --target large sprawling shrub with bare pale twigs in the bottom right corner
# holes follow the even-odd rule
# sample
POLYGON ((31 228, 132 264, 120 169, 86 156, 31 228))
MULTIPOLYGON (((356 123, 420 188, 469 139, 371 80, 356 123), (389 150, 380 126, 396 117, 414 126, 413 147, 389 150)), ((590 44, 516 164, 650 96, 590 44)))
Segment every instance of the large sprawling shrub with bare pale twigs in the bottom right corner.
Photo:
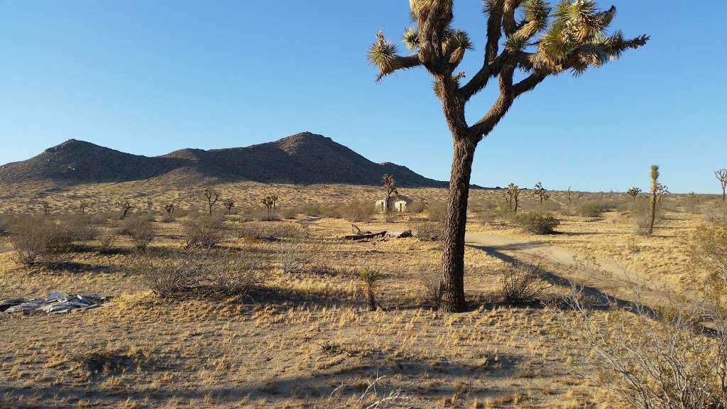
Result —
POLYGON ((576 318, 563 324, 593 353, 591 382, 611 391, 616 407, 697 409, 727 407, 727 319, 711 311, 678 308, 654 314, 634 303, 599 313, 582 293, 569 299, 576 318), (608 314, 608 317, 605 315, 608 314))

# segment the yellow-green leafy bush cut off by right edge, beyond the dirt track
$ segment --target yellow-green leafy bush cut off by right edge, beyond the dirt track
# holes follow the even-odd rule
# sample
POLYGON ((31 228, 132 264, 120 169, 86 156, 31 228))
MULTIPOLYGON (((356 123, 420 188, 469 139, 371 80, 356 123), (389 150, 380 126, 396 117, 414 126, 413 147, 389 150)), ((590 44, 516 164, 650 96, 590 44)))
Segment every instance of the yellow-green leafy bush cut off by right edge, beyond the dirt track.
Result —
POLYGON ((694 269, 707 275, 707 290, 719 301, 727 287, 727 219, 715 218, 697 226, 688 242, 694 269))

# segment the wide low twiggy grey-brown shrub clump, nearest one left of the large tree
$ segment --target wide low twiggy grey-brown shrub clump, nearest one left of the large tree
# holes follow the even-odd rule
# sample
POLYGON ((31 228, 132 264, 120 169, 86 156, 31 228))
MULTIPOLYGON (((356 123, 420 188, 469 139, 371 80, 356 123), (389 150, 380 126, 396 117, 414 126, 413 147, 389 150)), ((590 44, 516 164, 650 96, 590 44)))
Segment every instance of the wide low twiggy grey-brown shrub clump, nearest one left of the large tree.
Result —
POLYGON ((239 253, 184 252, 170 258, 145 258, 137 267, 146 284, 161 298, 248 295, 260 275, 239 253))

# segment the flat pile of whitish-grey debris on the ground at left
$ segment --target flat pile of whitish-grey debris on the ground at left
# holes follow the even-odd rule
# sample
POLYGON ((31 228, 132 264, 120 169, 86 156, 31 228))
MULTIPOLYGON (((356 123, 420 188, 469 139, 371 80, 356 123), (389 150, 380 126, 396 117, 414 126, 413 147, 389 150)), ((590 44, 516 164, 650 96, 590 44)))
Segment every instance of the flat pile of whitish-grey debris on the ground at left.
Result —
POLYGON ((96 309, 106 298, 100 294, 66 294, 54 291, 39 298, 13 298, 0 301, 0 312, 5 314, 60 314, 77 309, 96 309))

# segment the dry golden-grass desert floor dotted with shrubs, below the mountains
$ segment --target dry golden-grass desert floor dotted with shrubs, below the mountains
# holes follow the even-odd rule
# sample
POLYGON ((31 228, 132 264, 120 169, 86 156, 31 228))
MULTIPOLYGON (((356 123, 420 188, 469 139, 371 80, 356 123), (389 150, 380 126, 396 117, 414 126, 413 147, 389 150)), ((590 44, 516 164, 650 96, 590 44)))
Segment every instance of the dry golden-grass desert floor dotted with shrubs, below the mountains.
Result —
POLYGON ((580 408, 630 407, 645 394, 651 406, 632 406, 646 408, 676 396, 677 385, 653 387, 675 370, 698 403, 669 407, 725 402, 710 369, 722 368, 721 310, 704 309, 723 301, 720 196, 664 196, 654 233, 642 235, 635 218, 648 220, 648 199, 583 193, 569 205, 569 192, 550 191, 551 210, 521 196, 515 215, 499 211, 511 196, 475 189, 471 308, 447 314, 436 238, 446 189, 399 188, 427 206, 387 220, 373 210, 376 186, 228 183, 214 189, 237 211, 210 216, 199 188, 147 183, 138 200, 159 208, 129 201, 119 220, 119 198, 139 184, 65 189, 45 197, 48 216, 15 213, 33 194, 2 202, 0 298, 110 298, 92 311, 0 314, 4 406, 364 408, 395 397, 390 407, 580 408), (345 196, 320 202, 328 189, 345 196), (96 204, 81 214, 89 196, 96 204), (298 218, 271 221, 258 205, 268 196, 298 218), (342 240, 348 211, 365 204, 357 226, 389 235, 342 240), (396 237, 406 230, 414 237, 396 237), (630 279, 645 289, 634 293, 630 279), (585 286, 579 297, 571 284, 585 286), (638 302, 638 314, 619 299, 638 302), (699 300, 703 310, 688 309, 699 300), (660 364, 668 342, 694 358, 660 364))

